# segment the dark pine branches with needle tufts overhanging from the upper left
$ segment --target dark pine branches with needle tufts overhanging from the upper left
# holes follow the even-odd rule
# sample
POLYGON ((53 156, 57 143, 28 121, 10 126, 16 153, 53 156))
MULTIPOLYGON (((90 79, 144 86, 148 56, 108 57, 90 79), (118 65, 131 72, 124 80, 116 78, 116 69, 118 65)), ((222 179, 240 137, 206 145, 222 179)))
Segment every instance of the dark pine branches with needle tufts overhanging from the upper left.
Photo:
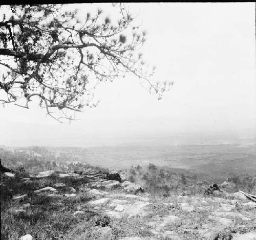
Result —
POLYGON ((124 4, 112 6, 118 8, 117 21, 101 9, 80 18, 78 10, 65 11, 65 7, 1 6, 2 103, 29 108, 37 98, 39 106, 60 121, 96 106, 95 87, 127 73, 137 76, 159 98, 173 85, 150 81, 154 68, 146 66, 139 52, 146 32, 133 25, 124 4))

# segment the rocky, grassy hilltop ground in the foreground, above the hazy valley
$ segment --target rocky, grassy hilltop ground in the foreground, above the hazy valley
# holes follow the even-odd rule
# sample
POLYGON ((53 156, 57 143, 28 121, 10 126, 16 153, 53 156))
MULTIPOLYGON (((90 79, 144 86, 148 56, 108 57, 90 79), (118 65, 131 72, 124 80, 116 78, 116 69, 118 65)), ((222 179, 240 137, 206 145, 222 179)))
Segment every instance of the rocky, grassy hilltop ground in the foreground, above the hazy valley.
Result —
POLYGON ((116 172, 1 174, 2 239, 256 239, 240 193, 147 192, 116 172))

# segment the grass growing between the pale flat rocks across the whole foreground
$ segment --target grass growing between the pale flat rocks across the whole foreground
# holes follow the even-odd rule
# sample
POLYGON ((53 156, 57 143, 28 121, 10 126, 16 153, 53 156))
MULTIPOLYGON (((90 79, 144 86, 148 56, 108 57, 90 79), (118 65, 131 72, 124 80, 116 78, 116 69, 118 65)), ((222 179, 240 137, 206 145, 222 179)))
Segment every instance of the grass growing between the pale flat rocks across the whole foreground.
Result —
MULTIPOLYGON (((136 215, 122 218, 111 218, 106 227, 96 226, 104 217, 104 207, 98 210, 93 209, 88 201, 92 197, 79 188, 87 184, 84 178, 58 178, 49 177, 45 179, 35 179, 32 183, 24 183, 22 178, 25 174, 17 174, 15 178, 1 177, 1 239, 19 239, 20 236, 31 234, 33 239, 77 239, 77 240, 105 240, 106 233, 110 231, 112 240, 123 236, 151 236, 156 237, 152 230, 159 232, 158 239, 172 239, 165 234, 166 231, 173 231, 181 239, 209 239, 207 233, 219 233, 218 239, 231 239, 234 233, 246 233, 255 231, 256 209, 248 209, 241 204, 237 204, 233 211, 243 214, 245 217, 254 219, 249 222, 240 218, 231 218, 233 224, 228 227, 221 226, 218 222, 209 219, 212 212, 220 209, 220 203, 230 203, 233 199, 230 196, 203 196, 200 189, 193 193, 187 190, 186 195, 179 196, 179 192, 171 191, 166 195, 166 190, 150 191, 150 193, 138 194, 139 197, 147 197, 152 204, 147 207, 147 214, 143 217, 136 215), (54 186, 55 183, 65 183, 67 187, 58 189, 61 194, 70 193, 69 187, 76 189, 76 197, 67 198, 59 195, 49 197, 47 194, 36 195, 34 190, 54 186), (13 196, 28 194, 24 200, 12 200, 13 196), (186 202, 193 205, 195 211, 184 212, 180 204, 186 202), (16 212, 22 209, 23 205, 30 203, 25 212, 16 212), (201 209, 200 207, 203 207, 201 209), (82 210, 81 214, 74 214, 75 211, 82 210), (175 215, 178 219, 175 222, 166 223, 159 227, 162 220, 175 215), (150 222, 154 222, 156 227, 152 227, 150 222), (242 226, 245 225, 245 226, 242 226), (203 232, 203 233, 202 233, 203 232)), ((125 199, 132 204, 136 199, 125 198, 125 194, 120 195, 120 189, 111 190, 111 199, 125 199)))

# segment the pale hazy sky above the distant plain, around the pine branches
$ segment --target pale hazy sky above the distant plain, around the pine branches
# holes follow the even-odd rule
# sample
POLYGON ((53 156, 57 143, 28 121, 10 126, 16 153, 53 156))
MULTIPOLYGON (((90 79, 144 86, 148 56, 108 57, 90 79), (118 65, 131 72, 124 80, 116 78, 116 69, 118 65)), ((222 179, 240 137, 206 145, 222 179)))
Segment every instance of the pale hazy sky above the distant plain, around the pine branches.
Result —
MULTIPOLYGON (((173 88, 158 100, 129 75, 103 83, 95 90, 99 105, 67 124, 35 104, 1 105, 0 145, 87 147, 218 134, 255 140, 255 3, 127 6, 147 31, 145 61, 157 66, 156 79, 174 81, 173 88)), ((99 4, 68 7, 82 16, 99 4)), ((100 7, 111 15, 109 4, 100 7)))

